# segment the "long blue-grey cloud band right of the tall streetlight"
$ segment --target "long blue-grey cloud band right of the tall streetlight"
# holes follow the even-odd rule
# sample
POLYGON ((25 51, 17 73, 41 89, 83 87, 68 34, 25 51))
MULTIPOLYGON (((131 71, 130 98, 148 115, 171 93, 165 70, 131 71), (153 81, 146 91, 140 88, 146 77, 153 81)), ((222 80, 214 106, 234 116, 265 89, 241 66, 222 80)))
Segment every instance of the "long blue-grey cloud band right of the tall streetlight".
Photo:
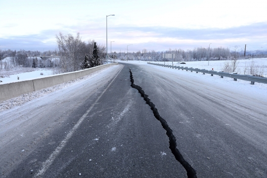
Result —
POLYGON ((112 32, 122 37, 156 37, 190 40, 238 39, 267 36, 267 23, 255 23, 247 26, 227 29, 179 29, 173 27, 115 27, 112 32), (124 32, 124 33, 122 33, 124 32))

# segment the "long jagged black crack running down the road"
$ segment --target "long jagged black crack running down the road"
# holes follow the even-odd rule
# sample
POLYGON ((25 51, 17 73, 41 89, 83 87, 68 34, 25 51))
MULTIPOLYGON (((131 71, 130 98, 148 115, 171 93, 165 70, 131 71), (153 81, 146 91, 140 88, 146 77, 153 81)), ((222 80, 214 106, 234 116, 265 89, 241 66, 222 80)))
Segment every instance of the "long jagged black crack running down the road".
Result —
POLYGON ((183 166, 183 168, 186 170, 187 173, 187 177, 188 178, 197 178, 196 176, 196 171, 192 168, 192 166, 184 160, 184 158, 182 157, 181 153, 179 152, 178 148, 177 148, 177 140, 175 135, 173 134, 173 130, 169 127, 168 123, 166 122, 165 119, 163 119, 159 112, 158 109, 156 108, 155 104, 153 104, 153 102, 151 102, 151 100, 148 98, 148 95, 145 94, 144 90, 140 87, 134 84, 134 78, 133 78, 133 73, 130 69, 130 79, 131 79, 131 87, 133 87, 134 89, 137 89, 138 92, 141 94, 141 96, 144 98, 144 100, 146 101, 146 104, 148 104, 150 106, 150 109, 153 111, 153 114, 155 116, 155 118, 160 121, 162 127, 166 130, 166 134, 169 137, 169 143, 170 146, 169 148, 171 149, 173 155, 175 156, 176 160, 183 166))

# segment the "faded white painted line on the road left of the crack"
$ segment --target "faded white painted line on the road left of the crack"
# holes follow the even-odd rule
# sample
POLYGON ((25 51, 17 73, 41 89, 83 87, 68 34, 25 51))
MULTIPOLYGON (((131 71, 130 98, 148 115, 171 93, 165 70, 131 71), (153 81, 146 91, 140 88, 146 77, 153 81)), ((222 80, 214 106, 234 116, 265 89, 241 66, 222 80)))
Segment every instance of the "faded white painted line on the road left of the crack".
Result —
MULTIPOLYGON (((122 69, 124 66, 122 67, 122 69)), ((42 169, 40 169, 36 174, 36 177, 42 177, 45 171, 49 168, 49 166, 53 163, 56 156, 60 153, 60 151, 63 149, 63 147, 66 145, 67 141, 71 138, 72 134, 75 133, 76 129, 82 124, 84 119, 87 117, 91 109, 94 107, 94 105, 98 102, 98 100, 101 98, 101 96, 105 93, 105 91, 109 88, 109 86, 113 83, 113 81, 117 78, 119 73, 122 71, 122 69, 118 72, 118 74, 114 77, 114 79, 109 83, 106 89, 98 96, 98 98, 95 100, 95 102, 92 104, 92 106, 86 111, 86 113, 79 119, 79 121, 75 124, 75 126, 72 128, 72 130, 67 134, 67 136, 60 142, 60 144, 56 147, 56 149, 50 154, 49 158, 42 164, 42 169)))

